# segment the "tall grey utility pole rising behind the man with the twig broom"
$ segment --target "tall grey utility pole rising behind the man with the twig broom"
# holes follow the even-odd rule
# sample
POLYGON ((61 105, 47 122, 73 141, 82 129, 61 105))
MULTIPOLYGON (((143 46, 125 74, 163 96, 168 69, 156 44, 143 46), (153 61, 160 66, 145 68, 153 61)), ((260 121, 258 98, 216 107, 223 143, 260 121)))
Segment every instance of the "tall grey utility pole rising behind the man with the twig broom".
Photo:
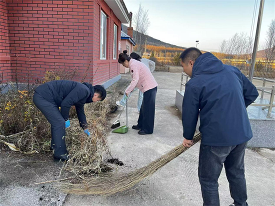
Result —
POLYGON ((255 41, 254 41, 252 59, 251 59, 251 62, 250 62, 251 67, 250 67, 249 77, 248 77, 249 81, 252 81, 253 73, 254 73, 254 67, 255 67, 255 61, 256 61, 256 55, 257 55, 257 49, 258 49, 258 43, 259 43, 259 33, 260 33, 263 5, 264 5, 264 0, 260 0, 257 29, 256 29, 256 34, 255 34, 255 41))

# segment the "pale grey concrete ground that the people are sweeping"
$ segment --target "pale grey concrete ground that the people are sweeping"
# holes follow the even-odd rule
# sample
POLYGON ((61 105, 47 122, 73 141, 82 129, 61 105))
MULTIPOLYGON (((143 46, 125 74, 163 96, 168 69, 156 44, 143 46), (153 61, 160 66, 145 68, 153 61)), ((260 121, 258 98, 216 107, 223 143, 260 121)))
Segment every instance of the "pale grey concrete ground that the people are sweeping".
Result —
MULTIPOLYGON (((158 82, 154 133, 138 135, 129 129, 125 134, 109 133, 107 140, 113 157, 125 166, 119 171, 142 167, 182 143, 181 113, 174 107, 175 90, 180 86, 180 73, 155 72, 158 82)), ((122 79, 130 80, 123 74, 122 79)), ((128 124, 136 124, 138 92, 129 99, 128 124)), ((118 112, 117 112, 118 116, 118 112)), ((117 117, 114 117, 115 120, 117 117)), ((121 125, 126 124, 125 112, 121 125)), ((199 143, 196 143, 138 186, 112 196, 65 195, 52 185, 28 186, 29 183, 54 179, 60 165, 54 162, 18 162, 28 156, 14 152, 0 152, 0 205, 202 205, 197 177, 199 143), (23 166, 16 166, 20 164, 23 166), (37 174, 37 175, 36 175, 37 174), (42 177, 42 179, 40 179, 42 177), (44 187, 43 187, 44 186, 44 187), (42 200, 40 200, 42 198, 42 200), (58 201, 59 200, 59 201, 58 201)), ((42 160, 50 159, 43 156, 42 160)), ((275 205, 275 151, 246 149, 245 169, 249 205, 275 205)), ((232 203, 224 170, 219 178, 220 205, 232 203)))

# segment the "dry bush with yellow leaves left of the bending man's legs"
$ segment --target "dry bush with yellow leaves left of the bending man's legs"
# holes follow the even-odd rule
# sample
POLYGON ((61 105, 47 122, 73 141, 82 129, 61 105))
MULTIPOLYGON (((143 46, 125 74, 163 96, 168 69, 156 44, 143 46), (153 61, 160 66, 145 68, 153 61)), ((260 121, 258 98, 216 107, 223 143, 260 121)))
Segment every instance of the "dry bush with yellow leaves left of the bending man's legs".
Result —
POLYGON ((32 102, 33 90, 18 90, 11 85, 0 93, 1 139, 15 144, 20 151, 47 151, 50 145, 50 126, 32 102), (13 135, 20 133, 19 135, 13 135))

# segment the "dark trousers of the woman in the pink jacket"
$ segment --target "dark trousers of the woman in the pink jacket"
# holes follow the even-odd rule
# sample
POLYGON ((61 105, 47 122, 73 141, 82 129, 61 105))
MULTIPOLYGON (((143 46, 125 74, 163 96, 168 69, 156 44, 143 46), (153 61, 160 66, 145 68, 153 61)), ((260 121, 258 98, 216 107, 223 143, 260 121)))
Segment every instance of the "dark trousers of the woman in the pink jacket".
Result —
POLYGON ((153 132, 156 90, 154 87, 144 92, 137 120, 137 126, 148 134, 153 132))

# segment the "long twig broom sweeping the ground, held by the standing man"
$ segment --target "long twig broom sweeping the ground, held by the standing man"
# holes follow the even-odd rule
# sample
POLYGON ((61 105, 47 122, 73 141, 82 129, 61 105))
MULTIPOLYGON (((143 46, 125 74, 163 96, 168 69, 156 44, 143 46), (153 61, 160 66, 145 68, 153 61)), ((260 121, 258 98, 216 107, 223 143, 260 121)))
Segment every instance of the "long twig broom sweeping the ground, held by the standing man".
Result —
MULTIPOLYGON (((193 143, 198 142, 200 138, 201 134, 196 133, 193 138, 193 143)), ((73 194, 114 194, 133 187, 136 183, 153 174, 188 148, 189 147, 184 147, 180 144, 148 165, 128 173, 100 176, 98 178, 85 178, 85 180, 80 183, 62 182, 57 187, 66 193, 73 194)))

